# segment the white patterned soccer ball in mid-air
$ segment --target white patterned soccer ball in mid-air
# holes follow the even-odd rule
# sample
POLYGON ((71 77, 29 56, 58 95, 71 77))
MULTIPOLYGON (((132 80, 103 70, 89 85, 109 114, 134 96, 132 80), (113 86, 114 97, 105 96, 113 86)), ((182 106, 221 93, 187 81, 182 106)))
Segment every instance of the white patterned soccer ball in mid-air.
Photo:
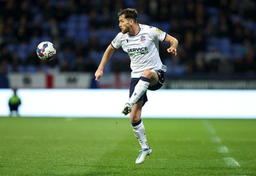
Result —
POLYGON ((51 42, 41 42, 37 46, 37 56, 41 60, 52 60, 56 55, 56 49, 51 42))

